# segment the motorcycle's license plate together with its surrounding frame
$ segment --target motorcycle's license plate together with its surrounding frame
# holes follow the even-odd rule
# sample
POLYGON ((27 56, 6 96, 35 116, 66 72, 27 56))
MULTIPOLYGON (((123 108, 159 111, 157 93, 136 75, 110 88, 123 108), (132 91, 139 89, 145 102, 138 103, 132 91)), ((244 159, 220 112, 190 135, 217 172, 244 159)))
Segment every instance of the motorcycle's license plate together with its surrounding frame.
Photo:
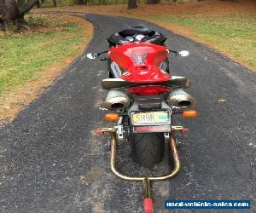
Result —
POLYGON ((131 124, 134 126, 170 125, 171 113, 167 110, 152 112, 131 112, 131 124))

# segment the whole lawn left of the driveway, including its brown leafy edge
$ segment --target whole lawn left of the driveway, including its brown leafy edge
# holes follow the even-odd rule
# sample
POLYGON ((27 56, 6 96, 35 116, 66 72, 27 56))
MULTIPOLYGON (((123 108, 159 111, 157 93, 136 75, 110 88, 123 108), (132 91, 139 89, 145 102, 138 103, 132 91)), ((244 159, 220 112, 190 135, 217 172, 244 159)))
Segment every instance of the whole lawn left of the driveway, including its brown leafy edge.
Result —
POLYGON ((93 27, 65 14, 26 16, 29 31, 0 32, 0 125, 15 118, 81 54, 93 27))

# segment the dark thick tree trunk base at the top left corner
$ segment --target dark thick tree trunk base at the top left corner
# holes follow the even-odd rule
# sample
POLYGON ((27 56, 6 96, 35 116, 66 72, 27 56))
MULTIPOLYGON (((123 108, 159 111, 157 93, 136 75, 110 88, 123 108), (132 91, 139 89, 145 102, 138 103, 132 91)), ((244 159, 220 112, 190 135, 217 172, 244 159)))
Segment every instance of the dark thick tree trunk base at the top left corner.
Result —
POLYGON ((25 26, 25 14, 31 10, 39 0, 0 0, 0 29, 7 26, 25 26))

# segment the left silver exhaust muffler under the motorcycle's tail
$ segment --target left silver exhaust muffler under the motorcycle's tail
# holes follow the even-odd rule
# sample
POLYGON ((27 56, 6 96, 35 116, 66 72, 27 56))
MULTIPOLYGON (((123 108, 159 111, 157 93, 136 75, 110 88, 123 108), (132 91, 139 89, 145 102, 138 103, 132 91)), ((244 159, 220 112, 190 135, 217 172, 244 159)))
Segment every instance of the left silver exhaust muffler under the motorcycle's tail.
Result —
POLYGON ((104 105, 109 110, 119 110, 129 107, 130 104, 131 100, 124 92, 119 90, 110 90, 104 105))

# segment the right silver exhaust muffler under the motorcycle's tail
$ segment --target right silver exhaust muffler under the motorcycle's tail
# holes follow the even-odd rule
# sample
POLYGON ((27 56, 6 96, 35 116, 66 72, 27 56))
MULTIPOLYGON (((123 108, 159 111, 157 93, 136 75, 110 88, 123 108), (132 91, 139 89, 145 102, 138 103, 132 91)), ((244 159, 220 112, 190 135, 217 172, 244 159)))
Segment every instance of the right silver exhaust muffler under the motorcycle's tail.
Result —
POLYGON ((195 98, 186 93, 183 89, 174 89, 168 95, 167 101, 170 107, 192 107, 195 106, 195 98))

